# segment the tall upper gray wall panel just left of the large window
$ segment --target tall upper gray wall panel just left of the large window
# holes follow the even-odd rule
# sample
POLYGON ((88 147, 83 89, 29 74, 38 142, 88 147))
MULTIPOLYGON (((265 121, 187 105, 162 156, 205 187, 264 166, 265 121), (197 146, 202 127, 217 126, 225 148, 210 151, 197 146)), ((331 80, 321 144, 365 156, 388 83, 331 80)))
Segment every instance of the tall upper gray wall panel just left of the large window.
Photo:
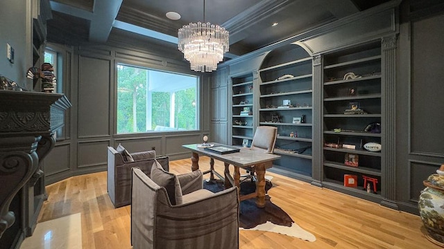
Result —
POLYGON ((110 61, 80 57, 78 136, 110 135, 110 61))

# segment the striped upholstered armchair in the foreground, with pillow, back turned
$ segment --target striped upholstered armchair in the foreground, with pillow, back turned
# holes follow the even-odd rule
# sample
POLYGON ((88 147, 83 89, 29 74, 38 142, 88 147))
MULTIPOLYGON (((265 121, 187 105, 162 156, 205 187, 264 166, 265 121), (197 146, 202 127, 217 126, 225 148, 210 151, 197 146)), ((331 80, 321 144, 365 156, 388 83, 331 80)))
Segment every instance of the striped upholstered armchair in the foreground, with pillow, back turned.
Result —
POLYGON ((157 169, 153 165, 149 178, 133 168, 134 249, 239 248, 237 187, 212 193, 203 189, 200 170, 175 176, 157 169))

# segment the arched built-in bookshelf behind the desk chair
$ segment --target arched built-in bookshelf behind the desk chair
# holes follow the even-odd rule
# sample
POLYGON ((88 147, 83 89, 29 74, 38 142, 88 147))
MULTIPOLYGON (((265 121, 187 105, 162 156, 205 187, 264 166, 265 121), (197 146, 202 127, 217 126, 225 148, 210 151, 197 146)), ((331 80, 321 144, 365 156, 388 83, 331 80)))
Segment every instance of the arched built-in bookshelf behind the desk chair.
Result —
POLYGON ((266 55, 259 69, 259 125, 278 127, 273 169, 311 178, 312 58, 289 44, 266 55))

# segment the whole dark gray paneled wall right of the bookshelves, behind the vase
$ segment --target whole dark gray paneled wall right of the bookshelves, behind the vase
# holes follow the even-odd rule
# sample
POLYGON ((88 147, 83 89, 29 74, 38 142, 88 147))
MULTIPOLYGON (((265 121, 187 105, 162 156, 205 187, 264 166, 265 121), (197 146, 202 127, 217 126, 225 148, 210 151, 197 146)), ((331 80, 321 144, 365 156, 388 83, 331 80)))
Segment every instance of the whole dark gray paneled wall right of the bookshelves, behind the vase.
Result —
POLYGON ((444 163, 444 14, 400 25, 396 99, 396 194, 417 212, 422 181, 444 163))

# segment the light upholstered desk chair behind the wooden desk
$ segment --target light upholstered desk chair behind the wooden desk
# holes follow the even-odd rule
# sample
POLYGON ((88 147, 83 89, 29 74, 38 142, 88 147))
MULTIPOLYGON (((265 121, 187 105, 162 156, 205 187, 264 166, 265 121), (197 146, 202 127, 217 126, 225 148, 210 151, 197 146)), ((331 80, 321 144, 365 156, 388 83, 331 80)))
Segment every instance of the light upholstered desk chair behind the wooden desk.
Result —
MULTIPOLYGON (((256 128, 255 136, 253 136, 253 142, 251 142, 250 149, 255 151, 262 151, 264 153, 273 153, 275 149, 276 136, 278 136, 278 127, 271 126, 259 126, 256 128)), ((250 179, 256 181, 255 168, 252 166, 247 170, 247 175, 242 181, 250 179)))

